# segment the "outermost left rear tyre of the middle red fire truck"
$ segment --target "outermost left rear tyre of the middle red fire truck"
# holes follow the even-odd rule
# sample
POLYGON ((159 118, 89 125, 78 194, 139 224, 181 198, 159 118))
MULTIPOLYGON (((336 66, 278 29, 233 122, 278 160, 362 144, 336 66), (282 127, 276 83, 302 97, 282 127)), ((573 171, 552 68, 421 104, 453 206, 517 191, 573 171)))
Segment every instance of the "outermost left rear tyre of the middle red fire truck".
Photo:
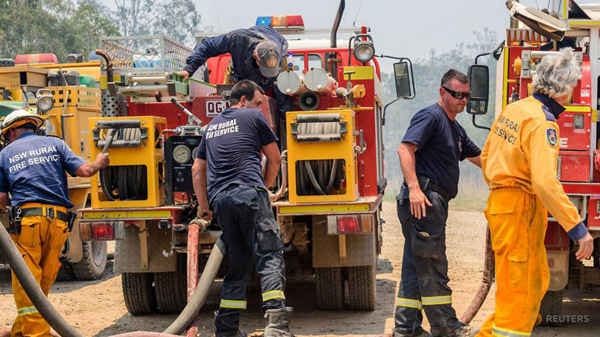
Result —
POLYGON ((121 285, 127 311, 134 316, 147 315, 156 308, 151 273, 123 273, 121 285))

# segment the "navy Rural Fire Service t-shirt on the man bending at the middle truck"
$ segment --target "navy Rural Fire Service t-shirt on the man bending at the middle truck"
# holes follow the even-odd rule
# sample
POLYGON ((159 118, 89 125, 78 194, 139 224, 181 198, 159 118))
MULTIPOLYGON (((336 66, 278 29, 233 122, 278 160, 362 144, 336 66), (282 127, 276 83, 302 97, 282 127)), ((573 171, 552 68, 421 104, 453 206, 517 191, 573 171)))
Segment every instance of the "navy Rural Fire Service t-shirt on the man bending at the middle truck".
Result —
POLYGON ((207 126, 198 147, 198 158, 207 161, 208 200, 230 185, 265 183, 260 150, 277 136, 258 109, 227 109, 207 126))

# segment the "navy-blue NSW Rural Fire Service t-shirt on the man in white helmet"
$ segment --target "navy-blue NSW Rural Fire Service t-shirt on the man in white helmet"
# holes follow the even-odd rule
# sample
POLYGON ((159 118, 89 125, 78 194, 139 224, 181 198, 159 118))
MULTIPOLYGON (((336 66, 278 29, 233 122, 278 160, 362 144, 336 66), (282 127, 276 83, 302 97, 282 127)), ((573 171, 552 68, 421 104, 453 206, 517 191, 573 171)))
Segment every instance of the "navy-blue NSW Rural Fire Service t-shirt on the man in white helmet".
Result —
POLYGON ((39 202, 73 207, 67 190, 85 161, 60 138, 25 133, 0 151, 0 192, 10 192, 10 204, 39 202))

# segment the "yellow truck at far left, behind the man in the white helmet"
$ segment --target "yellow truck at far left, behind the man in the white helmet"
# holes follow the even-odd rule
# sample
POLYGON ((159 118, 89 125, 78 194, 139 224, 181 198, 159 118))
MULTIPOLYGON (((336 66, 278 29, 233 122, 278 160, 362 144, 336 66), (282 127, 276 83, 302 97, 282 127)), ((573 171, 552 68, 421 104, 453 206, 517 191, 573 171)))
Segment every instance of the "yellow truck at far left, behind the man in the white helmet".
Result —
MULTIPOLYGON (((0 67, 0 118, 15 109, 35 111, 45 119, 45 134, 64 139, 76 155, 89 159, 87 119, 100 116, 102 107, 97 85, 100 61, 82 60, 81 55, 70 54, 66 63, 58 63, 52 53, 4 59, 0 67)), ((73 209, 85 207, 89 203, 89 178, 69 176, 68 185, 73 209)), ((79 226, 74 226, 61 261, 61 275, 98 279, 106 268, 107 243, 84 240, 79 226)))

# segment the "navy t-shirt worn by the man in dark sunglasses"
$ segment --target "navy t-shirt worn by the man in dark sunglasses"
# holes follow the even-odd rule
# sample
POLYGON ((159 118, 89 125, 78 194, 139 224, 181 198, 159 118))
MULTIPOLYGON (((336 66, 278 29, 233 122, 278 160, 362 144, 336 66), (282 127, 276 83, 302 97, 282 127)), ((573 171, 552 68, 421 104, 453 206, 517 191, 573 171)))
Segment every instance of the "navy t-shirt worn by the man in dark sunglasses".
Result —
POLYGON ((458 191, 458 162, 481 153, 458 121, 451 121, 437 103, 414 114, 402 142, 417 146, 417 176, 430 178, 451 198, 458 191))

